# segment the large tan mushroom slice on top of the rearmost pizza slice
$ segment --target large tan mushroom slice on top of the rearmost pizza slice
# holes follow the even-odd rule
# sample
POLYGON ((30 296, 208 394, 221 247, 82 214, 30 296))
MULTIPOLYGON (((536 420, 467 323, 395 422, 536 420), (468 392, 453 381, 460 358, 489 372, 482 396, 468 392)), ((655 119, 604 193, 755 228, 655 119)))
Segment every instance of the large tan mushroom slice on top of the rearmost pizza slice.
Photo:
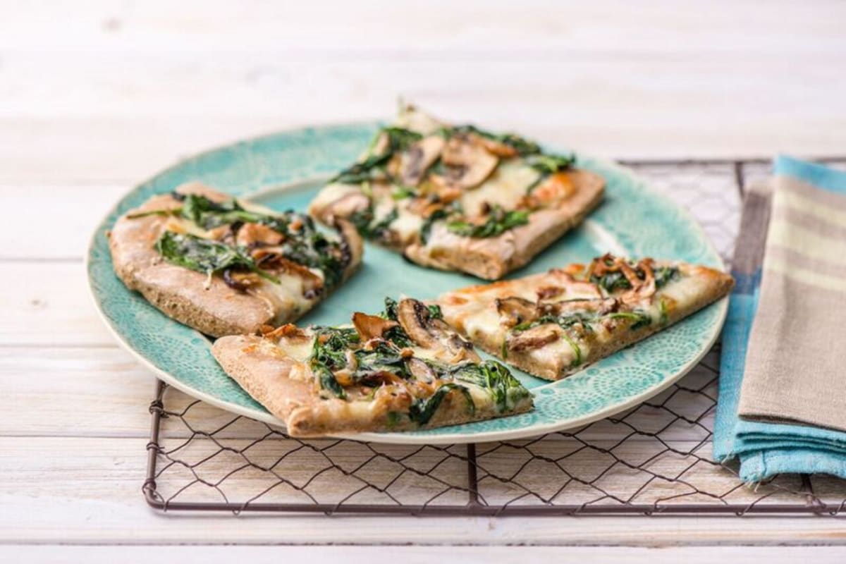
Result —
POLYGON ((491 176, 499 158, 489 153, 477 135, 456 134, 446 143, 441 161, 447 167, 443 175, 430 175, 436 184, 457 189, 471 189, 491 176))

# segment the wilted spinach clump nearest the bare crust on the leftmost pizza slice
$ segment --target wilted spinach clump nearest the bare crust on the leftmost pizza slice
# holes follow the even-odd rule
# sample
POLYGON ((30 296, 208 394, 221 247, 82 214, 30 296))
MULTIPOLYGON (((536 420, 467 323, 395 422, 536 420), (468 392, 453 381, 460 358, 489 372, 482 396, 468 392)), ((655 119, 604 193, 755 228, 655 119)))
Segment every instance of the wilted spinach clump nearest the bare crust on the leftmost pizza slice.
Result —
POLYGON ((156 241, 156 250, 168 262, 202 272, 210 279, 212 274, 232 269, 255 272, 262 278, 279 283, 277 277, 256 266, 255 260, 241 247, 230 247, 188 233, 166 231, 156 241))

